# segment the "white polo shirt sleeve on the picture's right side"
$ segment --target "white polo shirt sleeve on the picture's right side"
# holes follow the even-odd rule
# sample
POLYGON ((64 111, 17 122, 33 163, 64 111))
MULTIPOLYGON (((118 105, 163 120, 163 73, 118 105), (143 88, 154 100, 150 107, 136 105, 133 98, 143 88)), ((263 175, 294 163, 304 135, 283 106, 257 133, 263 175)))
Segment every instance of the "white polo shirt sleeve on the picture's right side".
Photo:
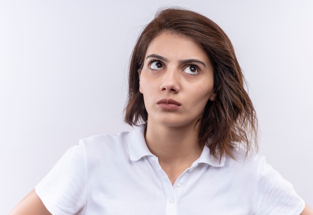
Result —
POLYGON ((255 214, 299 215, 305 206, 292 184, 263 160, 256 189, 255 214))

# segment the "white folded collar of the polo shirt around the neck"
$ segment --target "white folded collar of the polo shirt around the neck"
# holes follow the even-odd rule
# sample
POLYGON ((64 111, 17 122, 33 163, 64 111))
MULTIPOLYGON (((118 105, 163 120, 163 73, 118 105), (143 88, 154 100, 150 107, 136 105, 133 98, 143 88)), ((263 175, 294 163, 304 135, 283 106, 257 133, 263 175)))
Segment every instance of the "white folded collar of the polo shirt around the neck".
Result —
MULTIPOLYGON (((148 149, 145 139, 144 139, 144 131, 146 128, 146 124, 142 124, 138 127, 135 127, 131 132, 128 133, 127 136, 127 145, 129 150, 129 158, 132 161, 137 161, 141 157, 144 156, 154 156, 148 149)), ((199 158, 193 162, 195 163, 207 163, 208 165, 221 167, 224 166, 225 156, 223 156, 218 162, 218 160, 214 159, 214 157, 210 154, 209 148, 204 146, 199 158)))

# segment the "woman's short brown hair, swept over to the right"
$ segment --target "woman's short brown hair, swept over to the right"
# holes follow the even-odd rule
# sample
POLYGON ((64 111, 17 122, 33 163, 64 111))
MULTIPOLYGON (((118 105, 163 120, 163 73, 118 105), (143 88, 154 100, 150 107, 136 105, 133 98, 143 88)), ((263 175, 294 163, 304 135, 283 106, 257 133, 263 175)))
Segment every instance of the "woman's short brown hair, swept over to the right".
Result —
POLYGON ((233 148, 239 145, 246 154, 257 149, 256 114, 244 89, 244 78, 230 40, 213 21, 185 9, 159 11, 137 39, 130 60, 124 121, 129 125, 147 121, 138 70, 149 43, 164 31, 193 39, 206 52, 214 70, 216 99, 207 101, 199 121, 199 145, 207 145, 218 160, 223 155, 235 158, 233 148))

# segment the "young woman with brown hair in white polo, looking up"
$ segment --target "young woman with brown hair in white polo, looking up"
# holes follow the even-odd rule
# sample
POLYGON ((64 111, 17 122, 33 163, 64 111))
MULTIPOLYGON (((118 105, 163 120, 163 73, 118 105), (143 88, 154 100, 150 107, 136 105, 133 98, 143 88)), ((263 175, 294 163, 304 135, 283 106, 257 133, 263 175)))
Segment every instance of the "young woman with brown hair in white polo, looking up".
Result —
POLYGON ((134 47, 125 122, 70 148, 10 214, 313 214, 263 157, 232 45, 167 9, 134 47), (143 124, 142 124, 143 123, 143 124))

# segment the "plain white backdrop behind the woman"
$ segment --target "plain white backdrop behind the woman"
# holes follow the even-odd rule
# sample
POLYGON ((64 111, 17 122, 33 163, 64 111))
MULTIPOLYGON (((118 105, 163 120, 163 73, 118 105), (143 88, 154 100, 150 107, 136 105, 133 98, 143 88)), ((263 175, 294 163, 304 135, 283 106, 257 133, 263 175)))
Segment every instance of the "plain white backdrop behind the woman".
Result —
POLYGON ((122 122, 135 40, 161 7, 228 35, 259 119, 260 150, 313 206, 313 1, 0 0, 0 211, 82 137, 122 122))

